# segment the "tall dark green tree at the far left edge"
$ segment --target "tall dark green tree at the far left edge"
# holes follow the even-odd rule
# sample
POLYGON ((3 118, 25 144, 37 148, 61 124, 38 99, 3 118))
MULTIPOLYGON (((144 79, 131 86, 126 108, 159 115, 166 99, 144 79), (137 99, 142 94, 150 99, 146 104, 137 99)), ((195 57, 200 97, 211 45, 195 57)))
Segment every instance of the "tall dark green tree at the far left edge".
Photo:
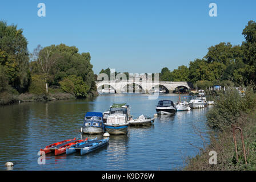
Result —
POLYGON ((9 84, 25 92, 30 82, 29 52, 23 30, 0 21, 0 65, 5 68, 9 84))

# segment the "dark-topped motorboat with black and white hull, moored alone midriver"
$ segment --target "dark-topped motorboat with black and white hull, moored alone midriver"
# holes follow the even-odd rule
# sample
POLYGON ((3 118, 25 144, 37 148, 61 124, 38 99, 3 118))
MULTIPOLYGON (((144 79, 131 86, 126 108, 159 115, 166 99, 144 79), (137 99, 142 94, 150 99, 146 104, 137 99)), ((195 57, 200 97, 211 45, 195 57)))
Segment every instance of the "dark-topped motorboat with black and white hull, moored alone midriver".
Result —
POLYGON ((173 101, 170 100, 159 101, 155 110, 157 111, 157 114, 171 114, 177 111, 173 101))

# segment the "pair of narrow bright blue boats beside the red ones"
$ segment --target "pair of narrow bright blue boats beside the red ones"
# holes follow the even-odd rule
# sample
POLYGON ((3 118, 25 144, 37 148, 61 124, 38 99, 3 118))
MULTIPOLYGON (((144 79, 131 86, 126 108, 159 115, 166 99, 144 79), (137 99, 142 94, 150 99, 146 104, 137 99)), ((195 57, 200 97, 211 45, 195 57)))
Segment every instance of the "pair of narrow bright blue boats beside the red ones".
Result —
POLYGON ((86 142, 80 145, 72 146, 67 148, 66 154, 72 154, 74 152, 80 151, 81 155, 87 154, 96 150, 97 148, 105 146, 109 142, 109 138, 101 139, 101 140, 91 140, 90 142, 86 142))

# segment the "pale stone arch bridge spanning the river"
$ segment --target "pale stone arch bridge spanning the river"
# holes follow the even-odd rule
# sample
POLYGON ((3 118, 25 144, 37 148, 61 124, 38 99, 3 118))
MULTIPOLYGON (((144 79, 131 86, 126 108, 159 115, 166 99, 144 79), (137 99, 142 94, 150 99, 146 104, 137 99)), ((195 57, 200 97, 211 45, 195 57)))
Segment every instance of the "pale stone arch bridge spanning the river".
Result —
MULTIPOLYGON (((104 86, 110 86, 111 89, 115 90, 115 93, 122 93, 124 90, 126 91, 127 85, 135 85, 135 88, 139 88, 141 92, 139 92, 139 89, 137 90, 138 93, 149 93, 152 89, 158 89, 159 87, 162 87, 167 90, 167 92, 172 93, 175 88, 179 88, 181 86, 190 89, 191 83, 186 81, 152 81, 152 80, 125 80, 125 81, 95 81, 98 92, 102 90, 103 85, 104 86)), ((106 88, 106 87, 105 87, 106 88)), ((109 88, 109 87, 107 87, 109 88)), ((135 90, 136 93, 136 90, 135 90)))

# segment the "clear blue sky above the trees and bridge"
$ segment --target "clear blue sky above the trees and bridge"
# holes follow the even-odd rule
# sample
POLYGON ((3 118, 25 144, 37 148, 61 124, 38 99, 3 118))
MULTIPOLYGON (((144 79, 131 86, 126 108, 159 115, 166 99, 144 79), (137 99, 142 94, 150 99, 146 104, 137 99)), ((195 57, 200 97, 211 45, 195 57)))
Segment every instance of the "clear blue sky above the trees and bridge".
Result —
POLYGON ((153 73, 202 58, 220 42, 241 44, 242 30, 256 18, 256 1, 83 0, 1 1, 0 19, 17 24, 29 51, 64 43, 90 52, 94 72, 153 73), (46 17, 38 17, 38 3, 46 17), (218 16, 209 16, 209 4, 218 16))

